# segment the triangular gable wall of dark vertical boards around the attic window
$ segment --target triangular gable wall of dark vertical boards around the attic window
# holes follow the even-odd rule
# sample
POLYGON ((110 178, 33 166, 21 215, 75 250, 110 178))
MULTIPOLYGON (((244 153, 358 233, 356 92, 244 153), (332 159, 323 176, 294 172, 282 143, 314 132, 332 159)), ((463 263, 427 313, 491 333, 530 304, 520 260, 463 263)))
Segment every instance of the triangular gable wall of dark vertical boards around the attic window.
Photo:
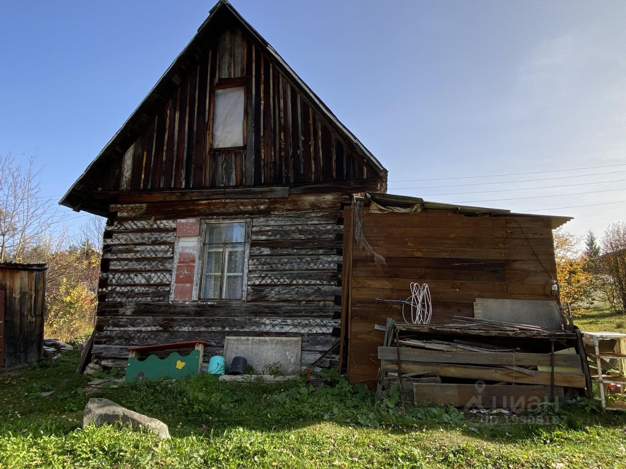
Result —
MULTIPOLYGON (((381 175, 346 143, 273 58, 235 26, 213 34, 144 119, 100 191, 321 183, 381 175), (212 149, 213 90, 245 86, 245 146, 212 149)), ((386 172, 385 172, 386 173, 386 172)))

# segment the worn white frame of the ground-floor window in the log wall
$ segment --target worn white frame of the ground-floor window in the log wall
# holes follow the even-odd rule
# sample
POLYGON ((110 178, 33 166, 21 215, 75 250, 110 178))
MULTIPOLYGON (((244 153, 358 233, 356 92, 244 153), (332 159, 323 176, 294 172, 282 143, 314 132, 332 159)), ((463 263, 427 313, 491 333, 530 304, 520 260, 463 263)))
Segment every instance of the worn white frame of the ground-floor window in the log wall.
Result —
MULTIPOLYGON (((250 231, 252 228, 252 220, 242 218, 220 218, 220 219, 201 219, 200 220, 200 236, 198 239, 198 253, 197 253, 197 268, 195 270, 195 278, 193 281, 193 300, 203 301, 205 303, 215 302, 227 302, 227 303, 241 303, 246 301, 248 290, 248 260, 250 258, 250 231), (204 277, 204 262, 205 262, 205 239, 207 236, 207 227, 211 224, 225 224, 225 223, 245 223, 245 236, 244 236, 244 271, 242 273, 242 297, 241 298, 202 298, 202 286, 204 277)), ((225 253, 227 257, 228 251, 225 253)), ((222 273, 220 275, 226 276, 223 273, 225 269, 225 263, 222 264, 222 273)), ((222 283, 222 291, 220 295, 223 296, 223 288, 225 282, 222 283)))

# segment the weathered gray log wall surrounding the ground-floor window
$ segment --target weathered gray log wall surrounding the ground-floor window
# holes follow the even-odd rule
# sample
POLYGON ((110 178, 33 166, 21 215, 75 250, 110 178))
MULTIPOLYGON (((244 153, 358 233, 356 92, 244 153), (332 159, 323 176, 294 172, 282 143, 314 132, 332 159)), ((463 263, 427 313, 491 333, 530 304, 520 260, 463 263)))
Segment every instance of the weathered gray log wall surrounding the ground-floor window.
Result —
POLYGON ((105 232, 93 352, 126 357, 132 345, 205 340, 207 358, 227 335, 302 337, 303 365, 338 340, 341 298, 339 193, 256 200, 111 207, 105 232), (247 301, 170 302, 177 218, 252 219, 247 301))

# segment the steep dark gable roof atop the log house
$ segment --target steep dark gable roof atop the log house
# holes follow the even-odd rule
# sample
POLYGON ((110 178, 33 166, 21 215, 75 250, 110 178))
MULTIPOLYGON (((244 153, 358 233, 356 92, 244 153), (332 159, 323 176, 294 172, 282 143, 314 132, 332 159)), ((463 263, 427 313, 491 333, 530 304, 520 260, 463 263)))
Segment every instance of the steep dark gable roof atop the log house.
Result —
POLYGON ((72 208, 76 211, 86 209, 92 213, 105 215, 103 209, 95 206, 83 206, 85 199, 90 196, 91 191, 95 188, 95 184, 100 174, 110 168, 111 164, 120 162, 123 153, 130 146, 132 141, 140 132, 140 126, 145 122, 146 114, 156 103, 167 99, 168 93, 172 87, 180 82, 180 74, 185 65, 193 61, 193 56, 199 48, 205 43, 205 39, 210 32, 219 27, 224 19, 234 20, 245 33, 249 34, 260 47, 262 47, 275 63, 282 69, 285 75, 294 82, 302 93, 310 99, 310 102, 322 113, 329 123, 335 126, 346 138, 347 143, 361 153, 363 158, 369 163, 372 169, 378 174, 386 174, 387 170, 374 157, 374 155, 354 136, 354 134, 337 119, 335 114, 322 102, 309 86, 290 68, 284 59, 270 46, 267 41, 254 29, 245 19, 233 8, 228 0, 220 0, 209 11, 208 18, 203 21, 192 40, 185 46, 183 51, 178 54, 177 58, 163 73, 161 78, 156 82, 155 86, 150 90, 147 96, 141 101, 139 106, 133 111, 121 128, 108 141, 105 147, 100 151, 98 156, 91 161, 83 174, 74 182, 69 190, 64 194, 59 204, 72 208))

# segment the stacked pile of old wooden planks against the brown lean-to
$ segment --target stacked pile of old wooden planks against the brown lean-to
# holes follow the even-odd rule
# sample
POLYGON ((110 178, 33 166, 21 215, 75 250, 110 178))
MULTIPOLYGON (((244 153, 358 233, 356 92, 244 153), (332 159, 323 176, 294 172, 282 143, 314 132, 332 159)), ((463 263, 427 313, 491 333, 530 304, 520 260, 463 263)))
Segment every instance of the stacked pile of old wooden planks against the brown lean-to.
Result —
POLYGON ((380 383, 413 391, 416 403, 525 407, 562 400, 565 388, 590 387, 581 345, 577 331, 471 318, 445 326, 389 319, 378 348, 380 383))

